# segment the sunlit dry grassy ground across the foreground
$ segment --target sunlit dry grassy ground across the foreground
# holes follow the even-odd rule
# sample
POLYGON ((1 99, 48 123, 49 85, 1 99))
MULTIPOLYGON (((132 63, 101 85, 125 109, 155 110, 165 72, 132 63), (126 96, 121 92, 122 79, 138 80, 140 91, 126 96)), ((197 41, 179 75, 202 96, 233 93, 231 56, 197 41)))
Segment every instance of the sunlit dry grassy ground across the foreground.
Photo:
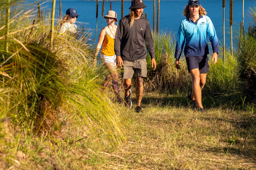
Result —
POLYGON ((82 122, 63 115, 61 135, 20 141, 29 151, 17 169, 256 169, 255 114, 219 106, 202 114, 185 94, 157 92, 145 92, 143 113, 116 109, 127 139, 121 145, 99 146, 82 122))

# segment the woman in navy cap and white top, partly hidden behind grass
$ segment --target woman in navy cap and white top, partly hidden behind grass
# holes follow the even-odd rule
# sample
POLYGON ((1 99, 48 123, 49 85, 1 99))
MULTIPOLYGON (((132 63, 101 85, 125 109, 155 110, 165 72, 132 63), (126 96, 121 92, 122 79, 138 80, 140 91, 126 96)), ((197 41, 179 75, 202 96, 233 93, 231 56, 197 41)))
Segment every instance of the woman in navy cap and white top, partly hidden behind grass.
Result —
POLYGON ((78 16, 80 15, 76 13, 76 10, 74 8, 69 8, 66 11, 66 16, 64 16, 63 20, 61 21, 60 33, 64 33, 67 30, 75 33, 77 30, 75 22, 78 16))

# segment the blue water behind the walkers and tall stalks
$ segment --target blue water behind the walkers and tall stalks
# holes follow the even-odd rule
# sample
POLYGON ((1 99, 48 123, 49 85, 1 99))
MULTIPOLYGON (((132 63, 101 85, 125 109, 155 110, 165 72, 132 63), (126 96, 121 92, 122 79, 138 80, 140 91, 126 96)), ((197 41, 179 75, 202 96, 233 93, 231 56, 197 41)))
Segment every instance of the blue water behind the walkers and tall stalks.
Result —
MULTIPOLYGON (((159 30, 171 31, 173 34, 177 34, 180 22, 185 19, 182 16, 183 8, 186 6, 188 0, 176 0, 176 1, 161 1, 160 2, 160 16, 159 16, 159 30)), ((95 37, 96 29, 96 1, 83 1, 83 0, 62 0, 62 13, 65 14, 68 8, 75 8, 77 13, 81 16, 77 19, 77 25, 79 28, 85 27, 86 30, 92 33, 91 38, 95 37)), ((151 29, 153 29, 153 1, 144 1, 147 6, 144 8, 144 13, 147 13, 147 18, 150 22, 151 29)), ((222 0, 201 0, 201 5, 205 8, 207 16, 209 16, 214 24, 217 36, 222 42, 223 40, 223 8, 222 0)), ((242 21, 242 0, 234 0, 234 24, 233 30, 238 32, 240 22, 242 21)), ((129 7, 131 1, 124 1, 124 15, 129 14, 129 7)), ((254 0, 245 0, 244 2, 244 22, 245 29, 250 22, 250 7, 256 6, 254 0)), ((50 10, 52 2, 47 2, 42 5, 45 9, 50 10)), ((59 1, 56 2, 57 16, 59 16, 59 1)), ((104 15, 110 10, 110 1, 105 1, 104 15)), ((112 10, 117 12, 118 20, 121 19, 121 1, 112 1, 112 10)), ((102 1, 99 1, 99 16, 98 16, 98 33, 101 29, 101 12, 102 1)), ((157 1, 156 1, 156 15, 157 15, 157 1)), ((156 16, 157 18, 157 16, 156 16)), ((230 26, 229 26, 229 1, 226 1, 225 7, 225 25, 226 25, 226 41, 229 41, 230 26)), ((106 25, 106 19, 103 19, 103 27, 106 25)), ((97 35, 98 37, 98 35, 97 35)), ((98 40, 98 38, 97 38, 98 40)))

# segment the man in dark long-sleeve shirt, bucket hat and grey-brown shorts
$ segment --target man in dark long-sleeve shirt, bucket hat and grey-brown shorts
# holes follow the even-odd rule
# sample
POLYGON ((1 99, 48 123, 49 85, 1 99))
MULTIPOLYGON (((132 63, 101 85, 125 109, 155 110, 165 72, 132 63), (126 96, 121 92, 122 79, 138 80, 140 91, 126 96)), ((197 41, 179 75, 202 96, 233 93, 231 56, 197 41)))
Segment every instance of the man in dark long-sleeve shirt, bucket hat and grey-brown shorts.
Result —
POLYGON ((119 21, 115 36, 115 53, 117 56, 117 65, 124 65, 124 89, 125 104, 129 108, 131 102, 131 83, 135 71, 136 75, 136 112, 141 112, 141 100, 143 94, 143 78, 147 77, 146 49, 151 56, 151 66, 156 69, 155 49, 153 36, 148 19, 143 17, 144 5, 142 0, 132 0, 130 14, 119 21))

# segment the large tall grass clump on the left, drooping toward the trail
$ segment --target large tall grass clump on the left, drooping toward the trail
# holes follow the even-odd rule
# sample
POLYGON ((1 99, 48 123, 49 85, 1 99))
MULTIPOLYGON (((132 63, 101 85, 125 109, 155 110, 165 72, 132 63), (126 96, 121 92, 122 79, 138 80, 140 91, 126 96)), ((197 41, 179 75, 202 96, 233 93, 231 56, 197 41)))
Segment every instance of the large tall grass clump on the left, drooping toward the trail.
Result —
MULTIPOLYGON (((0 8, 4 11, 5 5, 0 8)), ((76 117, 83 122, 99 144, 108 141, 115 146, 122 139, 121 121, 118 109, 99 91, 101 72, 88 65, 93 54, 87 40, 90 35, 77 38, 54 31, 50 50, 50 12, 32 25, 36 13, 12 13, 7 38, 0 29, 0 113, 4 114, 0 117, 10 118, 20 132, 55 135, 61 134, 64 112, 71 120, 76 117)), ((55 25, 59 30, 59 24, 55 25)))

